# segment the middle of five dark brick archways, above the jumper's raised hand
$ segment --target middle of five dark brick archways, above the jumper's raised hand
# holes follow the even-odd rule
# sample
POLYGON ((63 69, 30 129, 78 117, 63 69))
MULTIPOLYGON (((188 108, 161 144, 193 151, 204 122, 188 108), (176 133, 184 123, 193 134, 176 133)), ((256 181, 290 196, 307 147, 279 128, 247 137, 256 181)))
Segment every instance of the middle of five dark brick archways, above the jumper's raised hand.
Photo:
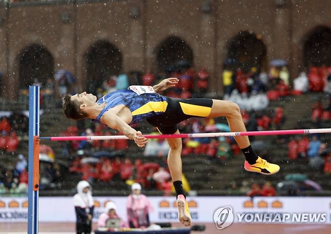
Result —
POLYGON ((165 71, 178 65, 192 66, 194 54, 188 42, 180 37, 170 36, 156 47, 156 70, 165 71))

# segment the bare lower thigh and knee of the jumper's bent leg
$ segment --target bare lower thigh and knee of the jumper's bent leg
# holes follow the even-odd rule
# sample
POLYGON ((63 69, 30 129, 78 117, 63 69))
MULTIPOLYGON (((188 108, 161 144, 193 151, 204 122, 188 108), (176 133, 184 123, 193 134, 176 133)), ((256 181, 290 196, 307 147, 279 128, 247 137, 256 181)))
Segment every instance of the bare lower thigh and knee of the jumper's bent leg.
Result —
POLYGON ((207 117, 215 118, 221 116, 228 116, 238 110, 238 105, 233 103, 232 101, 213 99, 213 105, 211 106, 210 114, 207 117))

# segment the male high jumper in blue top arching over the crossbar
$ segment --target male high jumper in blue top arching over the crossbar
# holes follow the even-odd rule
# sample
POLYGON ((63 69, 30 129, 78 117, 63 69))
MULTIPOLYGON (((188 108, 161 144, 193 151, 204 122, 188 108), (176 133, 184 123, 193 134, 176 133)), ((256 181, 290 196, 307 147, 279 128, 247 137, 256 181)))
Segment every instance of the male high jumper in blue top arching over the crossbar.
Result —
MULTIPOLYGON (((62 97, 63 111, 67 118, 80 120, 89 118, 107 125, 134 140, 138 147, 144 147, 147 139, 130 125, 146 120, 157 127, 162 134, 179 134, 177 124, 191 117, 214 118, 225 116, 231 132, 245 132, 239 106, 230 101, 192 98, 177 99, 165 97, 158 92, 175 87, 177 78, 168 78, 149 86, 130 86, 127 90, 110 92, 97 101, 91 93, 82 92, 62 97)), ((260 158, 252 149, 246 136, 234 137, 245 156, 246 171, 272 175, 279 166, 260 158)), ((182 185, 182 139, 167 139, 170 150, 168 166, 177 197, 178 217, 185 226, 191 225, 191 215, 182 185)))

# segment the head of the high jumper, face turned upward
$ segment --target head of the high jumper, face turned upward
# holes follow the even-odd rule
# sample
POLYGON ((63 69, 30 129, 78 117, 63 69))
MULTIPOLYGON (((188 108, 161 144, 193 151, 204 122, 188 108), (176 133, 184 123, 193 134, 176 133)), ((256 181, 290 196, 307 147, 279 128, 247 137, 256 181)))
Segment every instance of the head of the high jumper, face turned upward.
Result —
POLYGON ((66 94, 62 97, 64 114, 73 120, 88 118, 91 107, 96 104, 96 100, 97 97, 91 93, 82 92, 73 96, 66 94))

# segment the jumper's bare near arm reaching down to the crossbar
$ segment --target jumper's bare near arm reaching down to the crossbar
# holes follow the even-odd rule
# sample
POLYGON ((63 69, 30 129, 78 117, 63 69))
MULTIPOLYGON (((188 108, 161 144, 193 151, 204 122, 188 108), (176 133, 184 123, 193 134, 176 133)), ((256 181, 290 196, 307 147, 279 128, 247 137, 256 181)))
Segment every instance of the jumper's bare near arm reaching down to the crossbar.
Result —
POLYGON ((131 128, 125 121, 123 121, 117 114, 107 112, 103 115, 102 122, 111 129, 116 129, 123 133, 130 140, 139 147, 144 147, 147 144, 147 138, 142 137, 140 131, 131 128))

